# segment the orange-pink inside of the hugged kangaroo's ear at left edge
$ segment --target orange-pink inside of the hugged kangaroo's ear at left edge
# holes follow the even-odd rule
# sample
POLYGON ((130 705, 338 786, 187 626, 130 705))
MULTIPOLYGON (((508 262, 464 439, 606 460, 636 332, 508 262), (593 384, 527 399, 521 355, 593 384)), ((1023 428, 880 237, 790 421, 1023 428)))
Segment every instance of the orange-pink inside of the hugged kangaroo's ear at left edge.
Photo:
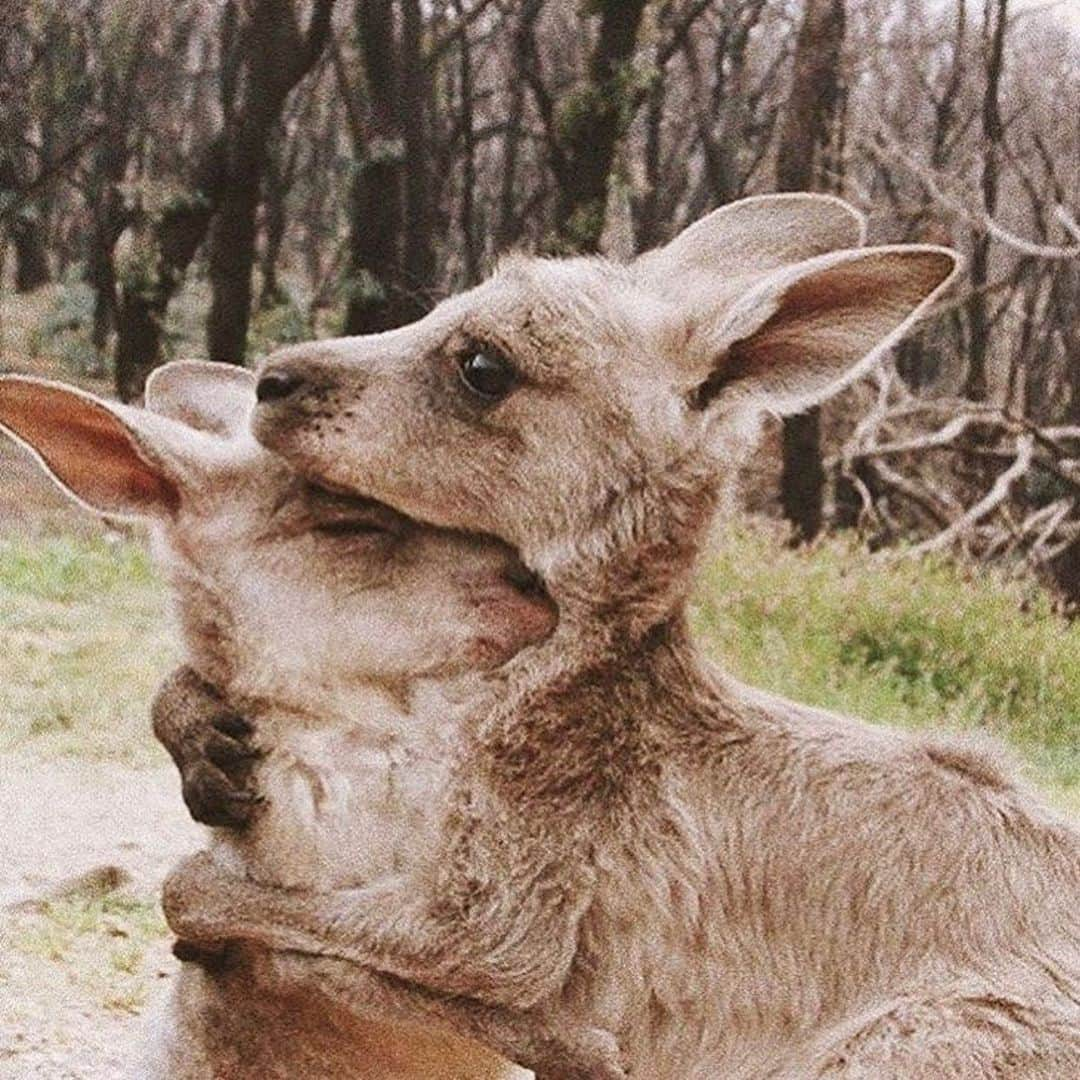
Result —
POLYGON ((6 382, 0 423, 41 455, 56 478, 100 510, 174 512, 177 486, 138 454, 111 413, 60 387, 6 382))

